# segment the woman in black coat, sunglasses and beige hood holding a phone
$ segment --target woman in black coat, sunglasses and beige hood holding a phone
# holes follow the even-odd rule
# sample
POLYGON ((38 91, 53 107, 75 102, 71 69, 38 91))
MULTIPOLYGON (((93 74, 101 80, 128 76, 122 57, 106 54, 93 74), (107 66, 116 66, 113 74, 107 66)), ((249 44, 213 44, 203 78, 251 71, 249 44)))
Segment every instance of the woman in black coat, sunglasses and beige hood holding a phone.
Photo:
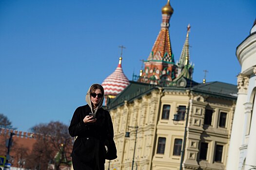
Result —
POLYGON ((114 131, 109 112, 101 108, 103 100, 103 87, 94 84, 86 94, 88 104, 78 107, 73 115, 68 130, 70 136, 77 136, 72 151, 74 170, 104 170, 114 131), (95 119, 90 113, 96 114, 95 119))

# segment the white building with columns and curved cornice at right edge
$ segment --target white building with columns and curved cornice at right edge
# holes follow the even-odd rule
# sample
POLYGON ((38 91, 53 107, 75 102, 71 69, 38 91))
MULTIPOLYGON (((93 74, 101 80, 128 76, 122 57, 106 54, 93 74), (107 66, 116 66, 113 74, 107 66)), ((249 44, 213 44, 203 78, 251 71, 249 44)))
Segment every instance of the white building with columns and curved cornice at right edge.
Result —
POLYGON ((227 170, 256 170, 256 20, 236 48, 241 65, 227 170))

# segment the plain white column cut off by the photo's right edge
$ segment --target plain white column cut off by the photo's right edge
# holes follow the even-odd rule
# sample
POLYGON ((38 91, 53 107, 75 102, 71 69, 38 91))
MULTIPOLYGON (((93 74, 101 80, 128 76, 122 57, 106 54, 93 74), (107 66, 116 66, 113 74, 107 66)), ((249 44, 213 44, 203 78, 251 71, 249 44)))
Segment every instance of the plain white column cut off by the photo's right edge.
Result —
POLYGON ((256 168, 256 100, 254 101, 254 108, 251 120, 250 136, 245 161, 245 170, 252 170, 252 168, 254 167, 256 168))

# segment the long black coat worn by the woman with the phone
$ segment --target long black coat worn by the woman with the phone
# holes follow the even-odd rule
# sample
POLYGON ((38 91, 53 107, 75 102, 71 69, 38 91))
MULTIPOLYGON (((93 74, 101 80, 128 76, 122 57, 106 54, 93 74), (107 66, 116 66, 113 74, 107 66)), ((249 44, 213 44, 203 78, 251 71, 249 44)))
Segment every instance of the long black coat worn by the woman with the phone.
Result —
POLYGON ((103 108, 97 110, 96 122, 84 123, 83 119, 89 113, 88 104, 78 107, 68 128, 70 136, 78 136, 73 145, 72 159, 83 164, 96 161, 101 167, 106 158, 105 146, 111 148, 110 141, 113 141, 113 124, 109 112, 103 108))

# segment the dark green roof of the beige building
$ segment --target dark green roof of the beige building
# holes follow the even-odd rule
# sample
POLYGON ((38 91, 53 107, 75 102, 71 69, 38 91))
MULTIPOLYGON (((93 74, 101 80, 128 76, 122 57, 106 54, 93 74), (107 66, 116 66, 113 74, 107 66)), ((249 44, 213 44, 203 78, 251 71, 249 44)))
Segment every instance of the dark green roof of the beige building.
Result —
POLYGON ((186 91, 191 90, 197 93, 212 95, 219 98, 225 98, 228 100, 236 100, 237 98, 237 88, 236 85, 227 84, 223 82, 209 82, 205 84, 198 84, 189 79, 183 79, 187 82, 186 86, 169 86, 163 87, 160 85, 151 85, 146 83, 130 81, 128 85, 116 98, 108 99, 108 109, 113 109, 118 105, 123 105, 124 101, 133 101, 136 98, 139 98, 150 91, 162 87, 163 90, 171 91, 186 91))

